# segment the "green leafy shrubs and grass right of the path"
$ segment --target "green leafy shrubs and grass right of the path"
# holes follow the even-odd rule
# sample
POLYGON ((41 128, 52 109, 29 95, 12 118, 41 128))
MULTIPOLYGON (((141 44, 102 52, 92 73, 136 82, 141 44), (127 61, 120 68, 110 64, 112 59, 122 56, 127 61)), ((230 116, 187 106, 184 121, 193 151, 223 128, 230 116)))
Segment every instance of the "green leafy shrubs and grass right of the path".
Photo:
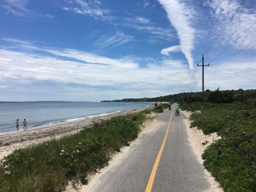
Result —
POLYGON ((224 191, 256 191, 256 109, 250 103, 214 104, 191 115, 191 127, 221 139, 207 147, 204 166, 224 191))

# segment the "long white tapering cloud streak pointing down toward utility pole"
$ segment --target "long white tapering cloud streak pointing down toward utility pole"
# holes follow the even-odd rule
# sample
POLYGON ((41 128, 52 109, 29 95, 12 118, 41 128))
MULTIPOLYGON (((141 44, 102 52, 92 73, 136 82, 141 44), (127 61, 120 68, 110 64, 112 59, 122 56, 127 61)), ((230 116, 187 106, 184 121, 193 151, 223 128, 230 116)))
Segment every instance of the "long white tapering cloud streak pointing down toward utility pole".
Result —
POLYGON ((177 30, 181 51, 188 60, 189 68, 194 68, 191 51, 194 49, 195 29, 191 27, 189 9, 184 3, 177 0, 158 0, 167 12, 172 26, 177 30))

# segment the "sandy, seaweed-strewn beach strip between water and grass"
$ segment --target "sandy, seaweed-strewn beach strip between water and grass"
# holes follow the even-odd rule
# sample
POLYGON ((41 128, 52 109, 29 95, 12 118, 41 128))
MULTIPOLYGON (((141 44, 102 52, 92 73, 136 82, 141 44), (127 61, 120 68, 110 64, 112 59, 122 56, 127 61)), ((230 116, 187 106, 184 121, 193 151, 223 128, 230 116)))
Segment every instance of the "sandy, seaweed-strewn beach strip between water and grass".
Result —
POLYGON ((84 126, 90 126, 101 119, 110 119, 115 116, 122 116, 132 113, 138 113, 145 109, 153 107, 143 107, 137 109, 127 109, 117 113, 108 114, 105 116, 97 116, 92 118, 82 119, 75 122, 65 122, 58 125, 51 125, 39 129, 32 129, 27 131, 16 131, 13 133, 0 135, 0 159, 12 153, 13 150, 26 147, 30 144, 42 142, 51 138, 57 138, 65 134, 73 134, 81 130, 84 126))

